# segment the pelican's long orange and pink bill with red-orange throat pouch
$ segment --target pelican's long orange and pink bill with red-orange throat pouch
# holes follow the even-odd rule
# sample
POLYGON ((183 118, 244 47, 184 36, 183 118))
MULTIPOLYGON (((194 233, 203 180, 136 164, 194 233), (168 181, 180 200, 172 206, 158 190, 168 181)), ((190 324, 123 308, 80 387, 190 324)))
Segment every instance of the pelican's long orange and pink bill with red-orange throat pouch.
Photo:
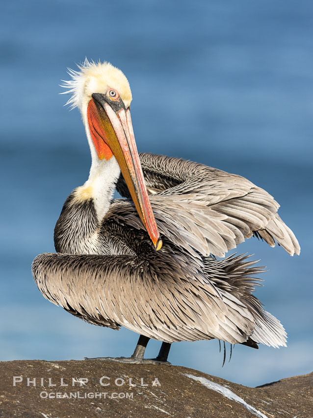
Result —
POLYGON ((146 183, 139 160, 130 118, 130 108, 123 101, 112 101, 105 94, 94 93, 88 104, 90 133, 100 159, 115 156, 139 217, 156 250, 162 240, 156 226, 146 183))

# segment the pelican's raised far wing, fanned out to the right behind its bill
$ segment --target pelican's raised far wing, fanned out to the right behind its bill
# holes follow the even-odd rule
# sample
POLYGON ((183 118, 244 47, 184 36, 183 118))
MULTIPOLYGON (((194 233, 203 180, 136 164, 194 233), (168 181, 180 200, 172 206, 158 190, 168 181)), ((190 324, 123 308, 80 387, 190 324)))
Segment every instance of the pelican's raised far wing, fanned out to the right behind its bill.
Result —
MULTIPOLYGON (((195 255, 225 253, 251 236, 299 254, 279 204, 249 180, 183 159, 141 153, 140 161, 160 232, 195 255)), ((118 191, 130 197, 122 178, 118 191)), ((141 228, 134 219, 132 226, 141 228)))

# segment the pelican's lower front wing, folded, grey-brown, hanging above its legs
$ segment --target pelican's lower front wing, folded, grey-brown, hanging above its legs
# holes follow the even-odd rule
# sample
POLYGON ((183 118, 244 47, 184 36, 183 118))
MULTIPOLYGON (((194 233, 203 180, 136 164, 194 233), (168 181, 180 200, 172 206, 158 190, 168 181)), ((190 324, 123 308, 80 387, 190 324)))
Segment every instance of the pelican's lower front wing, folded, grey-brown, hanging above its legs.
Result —
POLYGON ((132 241, 133 249, 140 246, 138 256, 37 256, 32 271, 39 290, 90 323, 124 326, 161 341, 247 341, 255 324, 244 301, 218 289, 198 260, 172 244, 156 252, 148 239, 135 236, 138 231, 132 241))

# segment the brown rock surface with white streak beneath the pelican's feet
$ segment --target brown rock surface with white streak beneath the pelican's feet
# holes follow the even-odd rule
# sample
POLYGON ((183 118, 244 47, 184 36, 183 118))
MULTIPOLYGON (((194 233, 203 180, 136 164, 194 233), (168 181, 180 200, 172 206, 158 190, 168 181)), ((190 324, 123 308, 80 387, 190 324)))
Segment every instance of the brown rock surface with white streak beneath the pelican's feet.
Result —
POLYGON ((5 418, 313 417, 313 373, 248 388, 180 366, 16 360, 0 375, 5 418))

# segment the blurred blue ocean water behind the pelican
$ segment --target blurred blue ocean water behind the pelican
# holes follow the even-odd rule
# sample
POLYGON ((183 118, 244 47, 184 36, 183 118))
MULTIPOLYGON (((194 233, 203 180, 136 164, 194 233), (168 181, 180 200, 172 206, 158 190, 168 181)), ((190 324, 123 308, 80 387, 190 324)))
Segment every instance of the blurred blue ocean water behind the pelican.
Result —
POLYGON ((269 269, 257 296, 287 329, 287 348, 236 346, 222 368, 217 341, 183 342, 169 360, 250 386, 310 372, 313 2, 13 0, 0 20, 0 360, 129 356, 137 341, 54 306, 30 272, 54 251, 63 202, 88 177, 78 110, 58 94, 66 67, 86 56, 128 77, 139 151, 247 177, 281 204, 302 247, 300 257, 256 239, 237 249, 269 269))

